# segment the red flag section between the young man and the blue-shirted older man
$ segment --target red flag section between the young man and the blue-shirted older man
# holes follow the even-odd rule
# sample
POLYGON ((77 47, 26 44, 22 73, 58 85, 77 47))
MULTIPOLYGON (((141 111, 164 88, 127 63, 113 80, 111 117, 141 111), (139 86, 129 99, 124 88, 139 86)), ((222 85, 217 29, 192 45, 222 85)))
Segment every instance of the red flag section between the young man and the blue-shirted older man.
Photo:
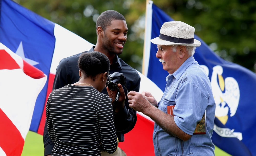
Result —
POLYGON ((154 122, 137 114, 134 128, 124 134, 125 140, 118 146, 129 156, 154 156, 153 131, 154 122))

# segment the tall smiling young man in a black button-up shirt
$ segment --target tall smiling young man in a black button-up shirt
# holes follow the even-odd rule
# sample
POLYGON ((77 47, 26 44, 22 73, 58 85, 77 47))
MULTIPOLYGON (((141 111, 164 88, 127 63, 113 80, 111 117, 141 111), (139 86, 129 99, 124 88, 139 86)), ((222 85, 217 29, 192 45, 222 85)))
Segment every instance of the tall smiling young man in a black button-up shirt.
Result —
MULTIPOLYGON (((118 58, 118 55, 123 52, 123 47, 127 40, 128 28, 125 18, 114 10, 107 10, 98 17, 96 31, 98 37, 96 46, 93 46, 89 51, 85 52, 99 51, 105 54, 109 58, 111 64, 109 73, 123 73, 126 77, 128 92, 139 92, 141 79, 137 71, 126 64, 122 59, 118 58)), ((78 82, 80 77, 77 61, 80 54, 73 55, 60 61, 56 70, 53 89, 58 89, 65 85, 78 82)), ((119 142, 124 141, 124 133, 131 131, 137 120, 136 111, 129 107, 127 91, 125 88, 124 91, 126 95, 124 105, 118 105, 114 110, 114 125, 119 142)), ((104 88, 102 93, 108 94, 106 88, 104 88)), ((50 155, 54 147, 54 142, 49 138, 47 125, 45 125, 43 140, 45 147, 44 155, 50 155)), ((121 149, 118 149, 114 154, 118 154, 118 151, 120 150, 121 149)), ((120 152, 124 155, 122 150, 120 152)), ((104 151, 102 155, 106 155, 104 151)))

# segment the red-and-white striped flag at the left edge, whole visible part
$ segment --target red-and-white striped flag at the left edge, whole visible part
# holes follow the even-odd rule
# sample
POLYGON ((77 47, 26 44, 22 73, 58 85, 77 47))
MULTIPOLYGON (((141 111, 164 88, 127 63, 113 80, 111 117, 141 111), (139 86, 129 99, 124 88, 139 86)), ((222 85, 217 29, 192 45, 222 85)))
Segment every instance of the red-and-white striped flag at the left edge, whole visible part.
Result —
POLYGON ((20 155, 47 76, 0 43, 0 155, 20 155))

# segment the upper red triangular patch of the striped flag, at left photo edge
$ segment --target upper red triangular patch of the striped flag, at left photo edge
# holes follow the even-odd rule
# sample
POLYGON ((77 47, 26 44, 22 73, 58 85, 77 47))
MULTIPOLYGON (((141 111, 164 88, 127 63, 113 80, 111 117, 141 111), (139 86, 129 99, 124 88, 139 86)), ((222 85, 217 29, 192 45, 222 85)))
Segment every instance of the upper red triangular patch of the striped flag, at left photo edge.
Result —
POLYGON ((16 63, 16 61, 10 56, 8 52, 1 49, 0 50, 0 69, 19 69, 19 65, 16 63))

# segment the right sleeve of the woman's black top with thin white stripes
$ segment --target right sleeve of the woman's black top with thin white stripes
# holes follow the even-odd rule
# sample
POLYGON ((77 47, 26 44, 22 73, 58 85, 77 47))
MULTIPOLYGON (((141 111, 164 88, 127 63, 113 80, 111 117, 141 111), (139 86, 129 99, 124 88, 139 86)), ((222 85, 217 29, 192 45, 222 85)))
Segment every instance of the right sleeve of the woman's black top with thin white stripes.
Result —
POLYGON ((118 139, 115 132, 113 109, 108 96, 102 98, 98 116, 102 146, 106 152, 113 154, 118 147, 118 139))

